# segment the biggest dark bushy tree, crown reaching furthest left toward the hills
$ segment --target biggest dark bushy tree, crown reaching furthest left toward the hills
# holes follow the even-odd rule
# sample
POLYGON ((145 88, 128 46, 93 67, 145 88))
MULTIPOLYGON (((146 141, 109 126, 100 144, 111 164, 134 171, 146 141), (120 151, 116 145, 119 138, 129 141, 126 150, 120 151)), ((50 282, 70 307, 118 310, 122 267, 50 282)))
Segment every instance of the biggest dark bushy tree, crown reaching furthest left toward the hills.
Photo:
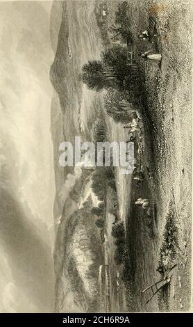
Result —
POLYGON ((81 78, 87 87, 96 91, 121 88, 127 74, 127 49, 115 45, 101 54, 101 61, 89 61, 82 68, 81 78))

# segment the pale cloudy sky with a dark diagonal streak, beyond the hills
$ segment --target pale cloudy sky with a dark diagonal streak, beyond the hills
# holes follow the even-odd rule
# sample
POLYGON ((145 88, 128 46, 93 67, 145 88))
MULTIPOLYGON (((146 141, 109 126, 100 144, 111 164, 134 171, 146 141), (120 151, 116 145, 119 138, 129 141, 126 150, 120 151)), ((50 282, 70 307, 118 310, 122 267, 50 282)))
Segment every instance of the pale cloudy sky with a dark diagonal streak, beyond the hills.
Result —
POLYGON ((54 301, 51 1, 0 1, 0 312, 54 301))

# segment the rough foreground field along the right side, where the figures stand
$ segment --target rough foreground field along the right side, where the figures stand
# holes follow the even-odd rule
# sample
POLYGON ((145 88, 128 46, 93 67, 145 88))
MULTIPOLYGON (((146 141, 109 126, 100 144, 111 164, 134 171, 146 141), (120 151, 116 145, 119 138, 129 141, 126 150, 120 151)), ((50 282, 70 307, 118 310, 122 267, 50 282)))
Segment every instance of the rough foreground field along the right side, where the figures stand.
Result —
MULTIPOLYGON (((134 42, 135 60, 142 78, 144 125, 143 165, 153 172, 141 188, 117 171, 117 194, 121 219, 126 225, 128 250, 133 271, 135 311, 189 310, 191 260, 191 167, 192 167, 192 14, 191 1, 127 1, 134 42), (139 40, 153 17, 160 36, 153 44, 139 40), (138 52, 151 49, 162 54, 162 63, 144 62, 138 52), (157 215, 151 219, 135 209, 137 198, 156 201, 157 215), (142 289, 160 279, 158 262, 164 239, 169 204, 172 203, 178 233, 176 259, 169 295, 145 304, 151 294, 142 289)), ((112 11, 114 7, 112 8, 112 11)), ((110 17, 113 17, 111 13, 110 17)), ((126 140, 118 124, 109 122, 110 139, 126 140), (113 126, 113 128, 111 128, 113 126)))

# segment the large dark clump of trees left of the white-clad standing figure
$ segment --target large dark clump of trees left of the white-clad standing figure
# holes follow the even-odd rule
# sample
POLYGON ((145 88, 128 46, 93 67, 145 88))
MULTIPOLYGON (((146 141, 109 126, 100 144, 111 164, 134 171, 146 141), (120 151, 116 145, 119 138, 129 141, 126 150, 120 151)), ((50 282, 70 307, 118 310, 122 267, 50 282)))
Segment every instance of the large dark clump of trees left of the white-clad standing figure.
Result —
POLYGON ((128 65, 128 41, 131 41, 131 22, 128 3, 119 3, 115 24, 110 33, 114 43, 101 52, 100 61, 89 61, 82 68, 81 79, 88 88, 97 92, 106 89, 105 107, 115 122, 127 122, 131 111, 140 104, 140 74, 136 67, 128 65), (121 44, 125 43, 124 45, 121 44))

